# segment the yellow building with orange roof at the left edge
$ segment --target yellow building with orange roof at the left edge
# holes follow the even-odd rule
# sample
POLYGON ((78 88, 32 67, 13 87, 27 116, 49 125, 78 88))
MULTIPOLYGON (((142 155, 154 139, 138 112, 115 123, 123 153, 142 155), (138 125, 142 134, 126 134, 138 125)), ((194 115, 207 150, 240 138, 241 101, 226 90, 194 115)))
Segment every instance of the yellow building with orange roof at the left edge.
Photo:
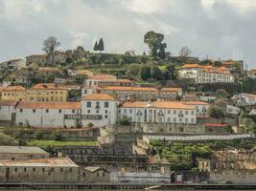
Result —
POLYGON ((22 86, 9 86, 2 88, 2 100, 27 100, 27 101, 46 101, 57 102, 67 101, 68 90, 59 87, 54 83, 39 83, 30 89, 25 89, 22 86))

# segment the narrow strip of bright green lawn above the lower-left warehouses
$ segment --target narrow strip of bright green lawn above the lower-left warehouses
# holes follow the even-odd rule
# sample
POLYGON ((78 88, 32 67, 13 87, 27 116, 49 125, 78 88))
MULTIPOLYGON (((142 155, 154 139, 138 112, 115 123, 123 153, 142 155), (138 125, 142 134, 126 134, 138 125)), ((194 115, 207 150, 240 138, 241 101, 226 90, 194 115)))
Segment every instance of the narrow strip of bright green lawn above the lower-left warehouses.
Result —
POLYGON ((29 146, 97 146, 97 141, 28 140, 29 146))

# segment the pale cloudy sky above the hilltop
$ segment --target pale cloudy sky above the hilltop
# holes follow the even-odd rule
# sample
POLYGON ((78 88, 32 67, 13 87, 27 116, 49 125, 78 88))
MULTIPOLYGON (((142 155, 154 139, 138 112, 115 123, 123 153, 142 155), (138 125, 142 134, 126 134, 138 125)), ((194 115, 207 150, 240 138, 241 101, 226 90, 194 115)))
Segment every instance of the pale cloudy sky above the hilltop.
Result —
POLYGON ((256 0, 0 0, 0 61, 42 53, 54 35, 59 49, 148 53, 146 32, 161 32, 166 51, 241 59, 256 68, 256 0))

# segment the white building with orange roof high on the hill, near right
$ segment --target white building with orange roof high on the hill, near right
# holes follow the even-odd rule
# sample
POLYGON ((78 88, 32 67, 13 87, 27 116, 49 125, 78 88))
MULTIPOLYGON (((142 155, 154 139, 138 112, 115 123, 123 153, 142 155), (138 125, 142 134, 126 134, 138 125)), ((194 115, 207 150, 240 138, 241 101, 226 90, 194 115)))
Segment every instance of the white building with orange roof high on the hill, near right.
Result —
POLYGON ((234 76, 226 67, 201 66, 198 64, 185 64, 178 74, 183 78, 194 79, 195 83, 232 83, 234 76))

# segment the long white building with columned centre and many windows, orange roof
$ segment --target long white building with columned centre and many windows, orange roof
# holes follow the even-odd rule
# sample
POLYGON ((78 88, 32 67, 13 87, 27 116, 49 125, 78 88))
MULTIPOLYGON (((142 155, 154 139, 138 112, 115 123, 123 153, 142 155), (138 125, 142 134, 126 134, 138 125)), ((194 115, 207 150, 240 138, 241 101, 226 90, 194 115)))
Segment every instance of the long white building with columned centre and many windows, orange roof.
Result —
POLYGON ((178 101, 124 102, 120 117, 131 122, 197 123, 197 108, 178 101))

